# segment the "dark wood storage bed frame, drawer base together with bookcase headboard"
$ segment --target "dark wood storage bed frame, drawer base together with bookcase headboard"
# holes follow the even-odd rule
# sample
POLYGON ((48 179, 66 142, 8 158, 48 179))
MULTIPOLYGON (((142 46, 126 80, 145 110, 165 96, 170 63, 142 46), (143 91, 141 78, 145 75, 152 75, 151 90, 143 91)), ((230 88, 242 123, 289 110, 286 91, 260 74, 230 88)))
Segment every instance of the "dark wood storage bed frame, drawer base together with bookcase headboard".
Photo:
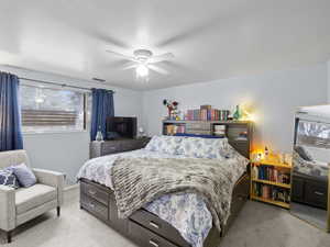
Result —
MULTIPOLYGON (((173 121, 164 121, 163 125, 173 123, 173 121)), ((175 123, 183 124, 182 122, 175 123)), ((249 158, 253 130, 251 122, 185 121, 185 124, 188 125, 187 130, 191 128, 190 133, 199 133, 200 128, 204 131, 207 128, 210 131, 208 134, 212 134, 211 130, 217 124, 227 125, 229 143, 241 155, 249 158), (246 141, 237 139, 241 132, 246 132, 246 141)), ((205 132, 202 133, 205 134, 205 132)), ((226 235, 231 223, 248 201, 249 191, 250 178, 248 173, 244 173, 235 183, 231 201, 231 214, 227 224, 221 226, 221 233, 213 226, 204 243, 204 247, 215 247, 220 244, 221 237, 226 235)), ((141 247, 191 247, 174 226, 144 209, 138 210, 127 220, 119 218, 113 191, 87 179, 80 180, 80 209, 95 215, 141 247)))

